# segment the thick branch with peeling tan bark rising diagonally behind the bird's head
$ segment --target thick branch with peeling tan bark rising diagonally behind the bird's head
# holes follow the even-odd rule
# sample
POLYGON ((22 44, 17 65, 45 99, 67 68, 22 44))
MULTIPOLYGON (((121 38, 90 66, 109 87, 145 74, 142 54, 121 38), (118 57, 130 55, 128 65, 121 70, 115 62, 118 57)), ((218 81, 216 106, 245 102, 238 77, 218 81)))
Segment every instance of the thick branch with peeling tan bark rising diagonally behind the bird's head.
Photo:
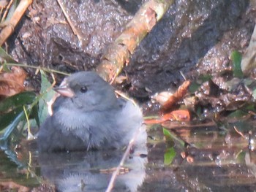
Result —
POLYGON ((115 80, 123 66, 128 64, 135 48, 162 18, 171 4, 173 0, 150 0, 143 4, 135 17, 127 24, 126 29, 103 55, 102 63, 97 67, 97 72, 103 79, 108 82, 115 80))

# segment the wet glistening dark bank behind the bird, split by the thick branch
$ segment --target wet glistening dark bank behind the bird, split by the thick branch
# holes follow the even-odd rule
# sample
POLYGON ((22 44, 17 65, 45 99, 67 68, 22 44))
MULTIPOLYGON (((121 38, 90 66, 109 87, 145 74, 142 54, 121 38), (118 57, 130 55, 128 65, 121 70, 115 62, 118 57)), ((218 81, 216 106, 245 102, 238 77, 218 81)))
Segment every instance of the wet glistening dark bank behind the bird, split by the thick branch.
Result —
MULTIPOLYGON (((34 1, 8 40, 21 63, 64 72, 91 70, 143 1, 63 1, 80 40, 54 0, 34 1)), ((244 52, 255 26, 249 1, 176 1, 140 43, 124 69, 123 87, 148 99, 185 76, 230 68, 230 53, 244 52)), ((33 74, 33 72, 31 72, 33 74)))

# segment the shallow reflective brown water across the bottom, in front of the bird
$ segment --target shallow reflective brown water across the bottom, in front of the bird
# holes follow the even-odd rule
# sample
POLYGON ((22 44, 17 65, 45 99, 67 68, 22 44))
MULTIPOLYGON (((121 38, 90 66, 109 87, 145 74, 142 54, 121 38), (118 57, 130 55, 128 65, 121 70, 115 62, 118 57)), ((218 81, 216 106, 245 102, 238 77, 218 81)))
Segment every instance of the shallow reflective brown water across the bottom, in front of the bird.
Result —
MULTIPOLYGON (((178 140, 165 139, 161 126, 148 128, 148 156, 129 157, 113 191, 255 191, 252 133, 239 131, 237 126, 236 130, 220 129, 214 123, 173 122, 165 126, 186 147, 178 140)), ((253 126, 253 121, 247 126, 253 126)), ((1 151, 1 191, 21 186, 27 191, 105 191, 123 154, 92 151, 42 155, 24 146, 1 151)))

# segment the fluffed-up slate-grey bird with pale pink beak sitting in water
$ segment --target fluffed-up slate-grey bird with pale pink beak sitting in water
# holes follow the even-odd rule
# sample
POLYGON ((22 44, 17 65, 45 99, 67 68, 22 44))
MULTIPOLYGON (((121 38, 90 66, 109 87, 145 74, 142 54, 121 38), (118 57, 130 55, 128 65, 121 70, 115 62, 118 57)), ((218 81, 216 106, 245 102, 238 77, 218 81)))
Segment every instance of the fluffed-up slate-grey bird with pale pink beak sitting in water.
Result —
MULTIPOLYGON (((41 152, 120 149, 143 122, 140 108, 117 98, 113 87, 95 72, 72 74, 55 91, 60 96, 53 115, 39 128, 41 152)), ((140 134, 145 138, 146 131, 140 134)))

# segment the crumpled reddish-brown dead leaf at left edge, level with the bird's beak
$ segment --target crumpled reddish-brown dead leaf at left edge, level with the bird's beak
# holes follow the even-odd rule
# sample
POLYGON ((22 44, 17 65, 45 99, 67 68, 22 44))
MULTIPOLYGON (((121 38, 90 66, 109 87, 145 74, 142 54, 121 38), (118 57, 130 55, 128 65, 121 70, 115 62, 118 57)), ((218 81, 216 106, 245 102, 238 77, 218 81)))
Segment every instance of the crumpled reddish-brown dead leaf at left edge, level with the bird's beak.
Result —
POLYGON ((12 72, 0 74, 0 96, 13 96, 24 91, 26 72, 19 66, 12 66, 12 72))

